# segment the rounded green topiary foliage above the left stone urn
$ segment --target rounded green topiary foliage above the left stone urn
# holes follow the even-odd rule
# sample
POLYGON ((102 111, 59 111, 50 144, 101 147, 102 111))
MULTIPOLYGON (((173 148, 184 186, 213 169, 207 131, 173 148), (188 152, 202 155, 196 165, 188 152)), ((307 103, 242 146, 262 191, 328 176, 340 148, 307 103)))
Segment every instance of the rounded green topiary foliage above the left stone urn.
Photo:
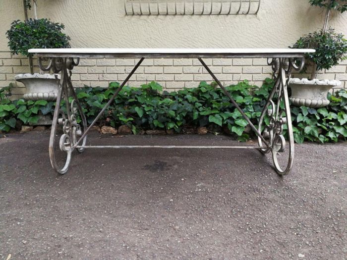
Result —
POLYGON ((70 38, 62 32, 63 29, 63 24, 46 18, 16 20, 6 32, 8 47, 12 54, 25 56, 29 56, 28 50, 33 48, 69 48, 70 38))

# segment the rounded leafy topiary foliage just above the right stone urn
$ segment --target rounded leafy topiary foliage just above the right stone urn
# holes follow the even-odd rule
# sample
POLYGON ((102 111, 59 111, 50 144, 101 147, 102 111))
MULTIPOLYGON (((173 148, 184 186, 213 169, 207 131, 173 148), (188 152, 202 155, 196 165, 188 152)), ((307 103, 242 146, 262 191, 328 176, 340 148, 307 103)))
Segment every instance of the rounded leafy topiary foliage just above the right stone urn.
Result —
POLYGON ((317 64, 317 70, 330 69, 346 58, 347 40, 330 28, 327 32, 320 30, 300 37, 292 48, 315 49, 314 53, 306 53, 305 58, 317 64))

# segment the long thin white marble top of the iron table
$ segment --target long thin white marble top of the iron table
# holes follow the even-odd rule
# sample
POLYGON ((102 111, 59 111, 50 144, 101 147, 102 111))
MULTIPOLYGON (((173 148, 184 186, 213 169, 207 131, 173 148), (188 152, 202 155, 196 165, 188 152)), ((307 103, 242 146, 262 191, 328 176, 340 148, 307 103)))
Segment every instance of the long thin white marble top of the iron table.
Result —
POLYGON ((307 52, 315 52, 313 49, 141 49, 141 48, 65 48, 65 49, 30 49, 29 53, 39 56, 73 56, 73 57, 269 57, 303 56, 307 52))

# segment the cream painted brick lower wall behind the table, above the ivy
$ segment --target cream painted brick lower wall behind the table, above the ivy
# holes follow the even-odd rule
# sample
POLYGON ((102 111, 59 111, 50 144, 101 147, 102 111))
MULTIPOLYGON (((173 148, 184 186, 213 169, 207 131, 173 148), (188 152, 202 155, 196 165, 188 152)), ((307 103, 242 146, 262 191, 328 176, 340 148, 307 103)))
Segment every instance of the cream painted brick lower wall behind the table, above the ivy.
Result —
MULTIPOLYGON (((139 59, 107 58, 81 59, 78 66, 72 70, 71 79, 75 87, 101 86, 107 87, 112 81, 123 81, 139 59)), ((224 85, 237 84, 248 80, 251 84, 261 86, 264 79, 272 77, 271 66, 266 58, 245 59, 204 59, 218 79, 224 85)), ((39 72, 37 60, 34 59, 34 70, 39 72)), ((23 84, 14 81, 19 73, 28 73, 28 59, 23 56, 11 56, 9 52, 0 52, 0 87, 13 83, 15 97, 20 97, 25 91, 23 84)), ((305 74, 295 75, 305 77, 305 74)), ((347 61, 341 62, 331 70, 320 71, 318 78, 339 79, 340 88, 347 88, 347 61)), ((212 81, 212 77, 197 59, 145 59, 135 74, 130 78, 130 86, 140 86, 147 82, 158 81, 170 91, 180 88, 197 87, 200 81, 212 81)))

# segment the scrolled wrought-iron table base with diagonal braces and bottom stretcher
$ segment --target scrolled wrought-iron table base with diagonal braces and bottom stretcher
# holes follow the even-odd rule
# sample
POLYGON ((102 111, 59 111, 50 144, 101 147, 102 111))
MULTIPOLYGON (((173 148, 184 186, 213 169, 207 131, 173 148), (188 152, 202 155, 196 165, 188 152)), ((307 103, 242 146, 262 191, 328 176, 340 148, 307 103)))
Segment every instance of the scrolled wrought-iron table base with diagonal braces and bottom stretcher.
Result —
POLYGON ((60 81, 58 82, 58 98, 57 105, 55 108, 52 131, 50 137, 50 160, 52 167, 60 174, 67 172, 71 163, 71 154, 74 150, 82 153, 85 149, 96 148, 112 148, 112 149, 149 149, 149 148, 163 148, 163 149, 257 149, 263 154, 272 153, 274 168, 280 175, 286 175, 290 172, 293 158, 294 158, 294 139, 293 131, 291 126, 290 108, 289 108, 289 98, 288 98, 288 82, 290 78, 291 71, 300 70, 303 66, 303 57, 300 58, 290 58, 290 57, 272 57, 268 58, 268 64, 272 66, 273 77, 275 79, 275 86, 270 93, 268 100, 262 110, 258 127, 256 128, 253 123, 249 120, 247 115, 242 111, 239 105, 232 99, 231 94, 222 85, 218 78, 213 74, 210 68, 202 60, 202 57, 197 57, 201 64, 210 73, 213 79, 217 82, 219 87, 223 90, 224 94, 230 99, 231 103, 238 109, 242 114, 244 119, 247 120, 248 124, 258 136, 258 147, 254 146, 87 146, 87 134, 92 128, 92 126, 99 120, 99 118, 104 114, 108 106, 114 101, 119 91, 125 86, 127 81, 140 66, 142 61, 145 59, 142 57, 138 63, 135 65, 133 70, 129 73, 123 83, 118 87, 113 97, 105 105, 105 107, 100 111, 98 116, 94 121, 87 125, 86 117, 83 113, 82 107, 77 99, 77 95, 71 83, 71 70, 74 66, 79 63, 79 58, 74 59, 72 57, 52 57, 51 62, 48 67, 44 67, 41 64, 41 58, 39 58, 40 68, 44 71, 50 70, 52 67, 55 73, 61 71, 60 81), (297 65, 297 62, 299 65, 297 65), (70 102, 70 97, 72 97, 72 102, 70 102), (64 104, 61 103, 64 101, 64 104), (80 115, 82 119, 81 125, 77 123, 77 114, 80 115), (265 115, 268 114, 270 117, 270 124, 266 125, 264 123, 265 115), (58 126, 62 126, 63 134, 60 136, 59 148, 61 151, 66 152, 66 160, 64 166, 58 167, 55 155, 55 143, 57 137, 58 126), (286 166, 281 168, 278 156, 282 155, 286 149, 286 140, 284 138, 284 129, 287 129, 288 142, 289 142, 289 156, 286 162, 286 166))

